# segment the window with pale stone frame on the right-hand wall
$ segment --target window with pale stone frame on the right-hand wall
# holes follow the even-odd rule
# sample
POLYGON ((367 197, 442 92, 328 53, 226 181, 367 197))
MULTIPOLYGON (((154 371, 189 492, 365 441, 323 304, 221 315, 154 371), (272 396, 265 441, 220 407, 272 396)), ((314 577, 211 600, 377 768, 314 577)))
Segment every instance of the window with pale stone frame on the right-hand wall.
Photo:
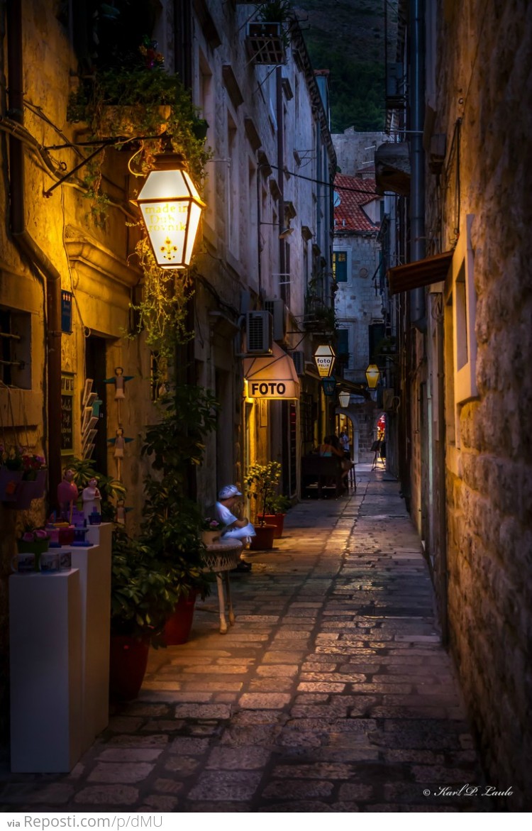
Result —
POLYGON ((471 226, 474 215, 467 214, 452 258, 453 359, 455 403, 477 395, 476 389, 476 295, 471 226))

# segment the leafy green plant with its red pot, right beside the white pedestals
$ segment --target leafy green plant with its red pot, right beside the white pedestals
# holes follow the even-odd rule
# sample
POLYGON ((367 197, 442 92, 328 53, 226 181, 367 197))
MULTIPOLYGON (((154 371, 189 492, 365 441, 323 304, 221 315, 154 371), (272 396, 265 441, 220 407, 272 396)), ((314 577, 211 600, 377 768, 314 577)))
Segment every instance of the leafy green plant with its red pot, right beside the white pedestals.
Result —
POLYGON ((174 575, 144 541, 117 525, 111 559, 111 696, 138 695, 150 645, 164 645, 165 623, 175 609, 174 575))

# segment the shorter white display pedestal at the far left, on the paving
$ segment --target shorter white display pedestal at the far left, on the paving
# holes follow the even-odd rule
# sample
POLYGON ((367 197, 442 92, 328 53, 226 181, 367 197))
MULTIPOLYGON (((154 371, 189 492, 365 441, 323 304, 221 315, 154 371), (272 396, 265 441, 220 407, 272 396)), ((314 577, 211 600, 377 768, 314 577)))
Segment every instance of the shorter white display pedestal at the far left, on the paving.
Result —
POLYGON ((76 570, 9 578, 11 770, 67 773, 81 756, 76 570))

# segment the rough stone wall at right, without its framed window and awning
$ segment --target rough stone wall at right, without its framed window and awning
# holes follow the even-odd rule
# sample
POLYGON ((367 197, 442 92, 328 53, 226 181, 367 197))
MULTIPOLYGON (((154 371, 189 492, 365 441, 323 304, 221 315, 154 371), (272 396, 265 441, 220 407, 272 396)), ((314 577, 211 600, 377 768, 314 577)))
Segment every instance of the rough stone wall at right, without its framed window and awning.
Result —
POLYGON ((440 191, 441 242, 475 215, 478 347, 478 396, 456 409, 446 440, 450 643, 488 780, 511 786, 511 811, 530 807, 532 770, 531 55, 525 0, 443 4, 434 132, 446 133, 448 163, 460 130, 460 158, 440 191))

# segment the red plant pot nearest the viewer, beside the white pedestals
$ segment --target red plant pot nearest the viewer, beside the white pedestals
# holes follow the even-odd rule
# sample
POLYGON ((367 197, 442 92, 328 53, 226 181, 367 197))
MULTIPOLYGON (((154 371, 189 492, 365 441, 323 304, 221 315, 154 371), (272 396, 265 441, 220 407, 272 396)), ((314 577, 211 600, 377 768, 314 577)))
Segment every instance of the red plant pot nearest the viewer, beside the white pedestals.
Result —
POLYGON ((139 695, 144 680, 150 642, 127 635, 111 635, 109 692, 111 698, 131 701, 139 695))

